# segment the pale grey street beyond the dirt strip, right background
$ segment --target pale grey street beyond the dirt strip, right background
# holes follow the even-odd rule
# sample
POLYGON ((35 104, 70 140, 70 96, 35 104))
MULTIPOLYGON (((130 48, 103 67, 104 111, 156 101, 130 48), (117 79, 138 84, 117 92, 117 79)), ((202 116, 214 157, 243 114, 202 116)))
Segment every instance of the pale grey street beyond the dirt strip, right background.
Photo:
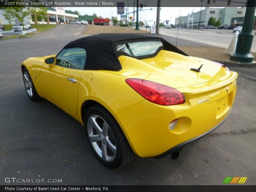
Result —
MULTIPOLYGON (((223 34, 225 30, 187 30, 179 29, 178 39, 185 39, 189 41, 194 41, 197 43, 208 44, 217 47, 228 48, 234 34, 223 34)), ((160 28, 160 33, 162 35, 177 37, 177 29, 165 29, 160 28)), ((179 42, 178 42, 179 45, 179 42)), ((252 42, 252 52, 256 52, 256 38, 254 37, 252 42)))

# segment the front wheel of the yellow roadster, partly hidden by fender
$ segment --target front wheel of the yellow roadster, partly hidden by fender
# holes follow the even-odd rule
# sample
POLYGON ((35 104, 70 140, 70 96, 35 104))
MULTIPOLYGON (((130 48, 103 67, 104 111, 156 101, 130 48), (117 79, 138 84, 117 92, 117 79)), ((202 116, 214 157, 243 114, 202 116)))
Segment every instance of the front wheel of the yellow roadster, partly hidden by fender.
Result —
POLYGON ((42 99, 36 91, 33 81, 28 73, 28 69, 23 68, 22 75, 23 75, 24 86, 25 86, 25 89, 26 89, 29 99, 31 99, 33 101, 42 99))

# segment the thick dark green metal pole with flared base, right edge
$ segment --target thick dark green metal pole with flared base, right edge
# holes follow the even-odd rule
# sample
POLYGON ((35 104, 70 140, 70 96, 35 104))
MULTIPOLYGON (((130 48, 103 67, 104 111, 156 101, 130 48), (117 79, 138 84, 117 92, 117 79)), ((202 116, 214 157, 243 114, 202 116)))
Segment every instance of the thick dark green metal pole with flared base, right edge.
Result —
POLYGON ((255 8, 256 1, 247 0, 242 32, 238 35, 236 52, 230 55, 230 60, 241 63, 251 63, 253 61, 254 57, 250 52, 254 36, 252 27, 255 18, 255 8))

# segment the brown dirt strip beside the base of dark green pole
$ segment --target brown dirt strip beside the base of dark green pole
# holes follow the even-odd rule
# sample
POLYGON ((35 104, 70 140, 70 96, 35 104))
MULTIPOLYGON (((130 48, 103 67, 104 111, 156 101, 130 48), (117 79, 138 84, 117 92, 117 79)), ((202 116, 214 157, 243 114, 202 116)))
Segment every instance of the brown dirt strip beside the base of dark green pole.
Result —
MULTIPOLYGON (((178 47, 183 52, 187 53, 189 56, 201 57, 208 60, 214 61, 230 61, 230 55, 225 54, 226 49, 221 47, 192 47, 192 46, 179 46, 178 47)), ((256 58, 256 53, 252 52, 254 59, 256 58)))

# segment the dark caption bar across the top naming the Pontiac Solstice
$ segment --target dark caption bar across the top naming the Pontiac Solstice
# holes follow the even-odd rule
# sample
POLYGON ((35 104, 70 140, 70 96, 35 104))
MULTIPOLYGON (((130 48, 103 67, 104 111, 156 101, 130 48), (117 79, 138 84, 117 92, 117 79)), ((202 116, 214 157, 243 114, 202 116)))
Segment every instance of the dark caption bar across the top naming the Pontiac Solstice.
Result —
MULTIPOLYGON (((161 7, 253 7, 255 6, 253 1, 255 0, 161 0, 161 7)), ((124 9, 125 7, 136 7, 136 3, 136 0, 0 0, 0 8, 46 6, 117 7, 118 9, 124 9)), ((157 7, 157 0, 139 0, 139 6, 144 8, 157 7)))

